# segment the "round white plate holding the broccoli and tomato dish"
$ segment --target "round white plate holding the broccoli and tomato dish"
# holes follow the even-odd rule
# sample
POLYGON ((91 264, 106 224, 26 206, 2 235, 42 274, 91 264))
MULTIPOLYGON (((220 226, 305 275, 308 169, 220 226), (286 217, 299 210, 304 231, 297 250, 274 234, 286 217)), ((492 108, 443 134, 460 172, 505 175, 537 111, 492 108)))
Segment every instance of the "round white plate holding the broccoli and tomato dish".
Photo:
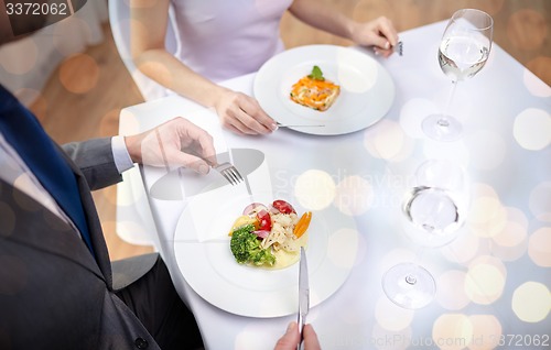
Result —
MULTIPOLYGON (((273 199, 288 200, 299 215, 305 211, 289 196, 255 194, 256 201, 269 204, 273 199)), ((192 208, 192 201, 179 220, 174 253, 186 282, 205 300, 231 314, 248 317, 295 314, 299 264, 281 270, 238 264, 229 249, 228 230, 250 198, 235 196, 219 203, 217 207, 192 208), (193 210, 212 210, 213 220, 194 223, 193 210), (209 239, 199 241, 197 230, 204 230, 209 239)), ((313 307, 333 295, 348 277, 356 259, 358 234, 354 220, 334 208, 313 212, 309 234, 306 256, 313 307)))

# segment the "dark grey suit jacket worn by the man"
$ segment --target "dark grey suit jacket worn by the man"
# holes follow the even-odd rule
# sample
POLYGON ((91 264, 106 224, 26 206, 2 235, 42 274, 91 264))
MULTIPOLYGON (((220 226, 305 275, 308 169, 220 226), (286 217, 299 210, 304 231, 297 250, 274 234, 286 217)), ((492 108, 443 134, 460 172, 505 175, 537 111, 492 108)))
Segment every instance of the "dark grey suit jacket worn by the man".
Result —
POLYGON ((115 295, 90 194, 121 179, 110 140, 64 150, 77 174, 97 260, 69 225, 0 181, 0 349, 123 350, 137 349, 142 340, 148 349, 159 349, 115 295))

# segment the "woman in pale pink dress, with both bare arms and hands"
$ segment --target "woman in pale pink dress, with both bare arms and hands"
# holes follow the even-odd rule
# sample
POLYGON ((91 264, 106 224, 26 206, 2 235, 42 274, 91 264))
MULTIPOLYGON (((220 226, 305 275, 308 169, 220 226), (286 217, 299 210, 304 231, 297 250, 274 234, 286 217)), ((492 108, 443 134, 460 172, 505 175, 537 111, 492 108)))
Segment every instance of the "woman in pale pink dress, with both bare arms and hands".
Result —
POLYGON ((387 18, 359 23, 316 0, 131 0, 130 7, 137 67, 166 89, 214 108, 238 134, 270 133, 277 124, 255 98, 216 83, 256 72, 284 50, 279 25, 285 11, 385 57, 398 43, 387 18), (165 48, 168 25, 176 36, 174 53, 165 48))

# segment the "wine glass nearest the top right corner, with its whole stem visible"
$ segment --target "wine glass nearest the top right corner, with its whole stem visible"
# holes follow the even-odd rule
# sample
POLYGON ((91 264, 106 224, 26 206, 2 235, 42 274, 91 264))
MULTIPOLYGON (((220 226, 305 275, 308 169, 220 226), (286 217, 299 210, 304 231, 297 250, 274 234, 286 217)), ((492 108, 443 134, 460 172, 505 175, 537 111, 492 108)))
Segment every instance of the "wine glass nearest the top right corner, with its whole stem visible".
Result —
POLYGON ((476 9, 456 11, 442 36, 439 47, 439 64, 452 79, 452 90, 445 110, 431 114, 422 122, 424 133, 437 141, 457 140, 461 122, 450 114, 457 83, 476 75, 486 64, 491 50, 494 20, 476 9))

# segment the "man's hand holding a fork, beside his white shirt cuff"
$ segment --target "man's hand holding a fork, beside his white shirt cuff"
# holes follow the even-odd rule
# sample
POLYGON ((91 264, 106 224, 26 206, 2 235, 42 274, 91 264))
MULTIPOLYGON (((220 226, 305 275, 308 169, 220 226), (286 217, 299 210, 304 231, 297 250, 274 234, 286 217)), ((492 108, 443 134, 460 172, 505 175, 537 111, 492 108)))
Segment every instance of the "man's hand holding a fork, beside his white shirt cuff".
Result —
POLYGON ((210 134, 181 117, 153 130, 126 136, 125 142, 134 163, 169 171, 183 166, 199 174, 207 174, 210 165, 216 164, 210 134))

